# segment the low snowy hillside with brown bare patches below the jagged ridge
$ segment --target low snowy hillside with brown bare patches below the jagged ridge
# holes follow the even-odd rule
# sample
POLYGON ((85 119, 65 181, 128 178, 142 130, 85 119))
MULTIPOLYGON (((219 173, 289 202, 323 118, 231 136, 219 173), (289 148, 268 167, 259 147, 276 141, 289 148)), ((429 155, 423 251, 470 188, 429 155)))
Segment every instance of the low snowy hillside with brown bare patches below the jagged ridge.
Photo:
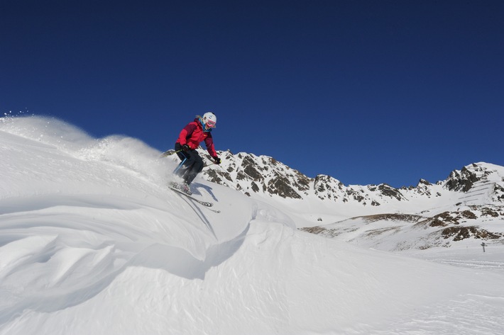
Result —
POLYGON ((504 208, 470 205, 433 216, 366 215, 301 230, 386 251, 449 247, 468 239, 476 243, 503 244, 504 208))

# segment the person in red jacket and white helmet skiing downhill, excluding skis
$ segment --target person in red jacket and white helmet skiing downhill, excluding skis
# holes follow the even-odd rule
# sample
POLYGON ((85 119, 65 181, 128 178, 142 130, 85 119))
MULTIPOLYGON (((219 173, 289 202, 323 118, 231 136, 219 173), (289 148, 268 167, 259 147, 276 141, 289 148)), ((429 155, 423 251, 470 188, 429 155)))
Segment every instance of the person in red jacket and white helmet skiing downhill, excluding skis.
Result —
POLYGON ((196 150, 199 147, 199 142, 204 141, 207 145, 207 151, 215 163, 221 164, 212 139, 212 130, 216 123, 217 116, 212 112, 207 112, 203 116, 196 115, 195 120, 180 131, 177 142, 175 142, 175 152, 182 163, 175 169, 175 174, 182 178, 182 183, 172 183, 174 188, 191 194, 189 186, 203 169, 203 159, 199 157, 196 150))

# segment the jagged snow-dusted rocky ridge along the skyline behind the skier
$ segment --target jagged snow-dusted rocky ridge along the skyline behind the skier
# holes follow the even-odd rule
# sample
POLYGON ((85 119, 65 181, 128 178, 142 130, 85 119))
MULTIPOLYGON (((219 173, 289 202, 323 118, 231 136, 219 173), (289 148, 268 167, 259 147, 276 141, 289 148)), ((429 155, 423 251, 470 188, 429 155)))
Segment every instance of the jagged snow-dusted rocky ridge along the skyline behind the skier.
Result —
POLYGON ((345 186, 341 181, 319 174, 309 178, 295 169, 268 156, 219 152, 221 166, 212 165, 201 149, 207 169, 203 175, 209 181, 234 188, 246 195, 262 194, 272 198, 307 199, 316 197, 334 203, 358 203, 363 207, 378 207, 422 198, 459 198, 464 203, 504 203, 504 167, 476 163, 454 170, 444 181, 429 183, 420 179, 417 186, 393 188, 386 183, 368 186, 345 186))

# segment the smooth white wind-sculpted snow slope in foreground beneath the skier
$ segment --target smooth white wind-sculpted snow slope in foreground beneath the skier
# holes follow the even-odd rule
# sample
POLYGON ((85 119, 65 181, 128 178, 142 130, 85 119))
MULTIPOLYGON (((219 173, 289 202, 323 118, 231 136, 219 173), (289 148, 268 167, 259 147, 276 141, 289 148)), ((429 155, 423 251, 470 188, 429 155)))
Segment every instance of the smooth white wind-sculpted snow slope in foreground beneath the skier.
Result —
POLYGON ((0 334, 504 333, 502 245, 355 246, 297 230, 313 204, 197 178, 212 212, 159 155, 0 118, 0 334))

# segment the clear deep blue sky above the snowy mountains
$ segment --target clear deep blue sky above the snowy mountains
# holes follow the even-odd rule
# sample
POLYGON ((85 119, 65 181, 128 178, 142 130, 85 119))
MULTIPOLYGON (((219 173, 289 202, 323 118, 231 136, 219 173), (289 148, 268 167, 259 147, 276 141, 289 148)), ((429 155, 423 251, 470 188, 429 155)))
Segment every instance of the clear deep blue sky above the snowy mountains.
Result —
POLYGON ((1 113, 346 185, 504 165, 504 1, 1 1, 1 113))

